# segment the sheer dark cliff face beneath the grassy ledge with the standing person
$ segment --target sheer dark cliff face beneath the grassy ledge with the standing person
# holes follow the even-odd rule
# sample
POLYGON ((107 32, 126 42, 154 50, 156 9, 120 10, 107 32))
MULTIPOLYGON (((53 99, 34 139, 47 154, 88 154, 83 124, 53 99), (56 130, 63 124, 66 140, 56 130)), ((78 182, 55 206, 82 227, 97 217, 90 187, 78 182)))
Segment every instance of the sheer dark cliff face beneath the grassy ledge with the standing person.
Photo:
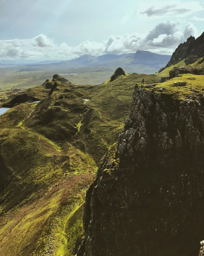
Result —
POLYGON ((203 143, 203 97, 179 101, 136 87, 118 143, 87 192, 78 256, 198 256, 203 143))

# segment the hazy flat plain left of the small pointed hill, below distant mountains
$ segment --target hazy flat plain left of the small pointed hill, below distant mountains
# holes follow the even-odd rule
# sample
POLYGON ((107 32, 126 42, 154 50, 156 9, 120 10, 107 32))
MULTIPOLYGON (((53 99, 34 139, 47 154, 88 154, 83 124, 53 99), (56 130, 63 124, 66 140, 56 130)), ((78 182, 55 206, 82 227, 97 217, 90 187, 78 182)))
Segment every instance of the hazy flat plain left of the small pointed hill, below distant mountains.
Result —
POLYGON ((114 73, 115 68, 77 68, 77 69, 57 69, 42 68, 41 66, 27 67, 16 66, 0 68, 0 91, 30 88, 39 86, 46 79, 52 79, 54 74, 77 73, 77 75, 63 75, 74 84, 101 84, 114 73))

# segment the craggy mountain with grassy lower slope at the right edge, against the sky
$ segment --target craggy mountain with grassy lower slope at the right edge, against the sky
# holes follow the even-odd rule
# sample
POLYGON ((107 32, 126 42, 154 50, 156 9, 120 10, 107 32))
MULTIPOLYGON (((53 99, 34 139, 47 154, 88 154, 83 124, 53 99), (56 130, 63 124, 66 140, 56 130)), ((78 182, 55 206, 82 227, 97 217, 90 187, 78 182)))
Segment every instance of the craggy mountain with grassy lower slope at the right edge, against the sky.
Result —
POLYGON ((168 64, 159 70, 160 76, 167 76, 175 66, 204 67, 204 32, 197 39, 189 37, 186 42, 179 44, 168 64))

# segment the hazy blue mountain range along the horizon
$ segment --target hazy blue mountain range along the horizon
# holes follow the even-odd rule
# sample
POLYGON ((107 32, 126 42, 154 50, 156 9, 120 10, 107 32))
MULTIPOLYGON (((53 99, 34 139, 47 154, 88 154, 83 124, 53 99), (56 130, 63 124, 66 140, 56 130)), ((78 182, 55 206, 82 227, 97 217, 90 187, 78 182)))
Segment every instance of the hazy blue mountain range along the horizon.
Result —
MULTIPOLYGON (((93 56, 84 54, 81 57, 70 59, 68 61, 41 61, 38 63, 25 64, 26 66, 42 65, 46 68, 80 68, 80 67, 122 67, 128 73, 155 73, 164 67, 170 60, 170 55, 156 54, 149 51, 138 50, 136 53, 124 54, 103 54, 93 56)), ((1 64, 0 64, 1 65, 1 64)), ((5 65, 5 64, 2 64, 5 65)), ((7 64, 9 65, 9 64, 7 64)), ((17 64, 15 64, 17 65, 17 64)), ((22 65, 22 64, 21 64, 22 65)))

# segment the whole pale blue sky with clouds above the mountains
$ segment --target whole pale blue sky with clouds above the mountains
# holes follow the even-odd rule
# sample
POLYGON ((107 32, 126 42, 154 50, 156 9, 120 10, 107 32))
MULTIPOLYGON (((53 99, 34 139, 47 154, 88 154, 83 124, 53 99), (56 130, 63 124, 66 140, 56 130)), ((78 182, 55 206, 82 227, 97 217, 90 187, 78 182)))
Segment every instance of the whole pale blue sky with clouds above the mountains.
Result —
POLYGON ((0 0, 0 63, 149 50, 204 31, 204 0, 0 0))

